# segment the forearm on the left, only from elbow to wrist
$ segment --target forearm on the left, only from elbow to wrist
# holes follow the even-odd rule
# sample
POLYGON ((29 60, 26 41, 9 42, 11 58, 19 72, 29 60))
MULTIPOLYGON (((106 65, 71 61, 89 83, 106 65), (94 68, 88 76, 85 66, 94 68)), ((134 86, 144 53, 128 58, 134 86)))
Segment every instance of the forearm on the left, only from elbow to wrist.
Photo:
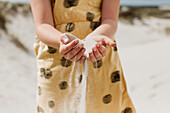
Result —
POLYGON ((59 48, 61 32, 50 24, 41 24, 36 28, 38 38, 48 46, 59 48))

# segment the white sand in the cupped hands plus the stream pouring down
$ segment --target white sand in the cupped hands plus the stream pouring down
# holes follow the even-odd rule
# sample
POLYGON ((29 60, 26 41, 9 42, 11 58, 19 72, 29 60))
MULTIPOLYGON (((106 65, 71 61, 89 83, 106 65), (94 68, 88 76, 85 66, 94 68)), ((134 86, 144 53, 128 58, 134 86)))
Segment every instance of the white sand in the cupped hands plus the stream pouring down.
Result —
MULTIPOLYGON (((95 44, 97 43, 96 41, 92 40, 92 39, 86 39, 86 40, 80 40, 79 38, 77 38, 76 36, 70 34, 70 33, 63 33, 63 35, 65 35, 67 37, 67 35, 70 35, 72 37, 74 37, 75 39, 79 40, 79 43, 83 43, 84 44, 84 48, 86 49, 84 55, 88 58, 89 57, 89 52, 92 51, 92 47, 95 46, 95 44)), ((78 44, 77 44, 78 45, 78 44)), ((75 46, 76 47, 76 46, 75 46)), ((74 48, 75 48, 74 47, 74 48)), ((76 57, 75 57, 76 59, 76 57)), ((85 59, 85 62, 83 63, 83 79, 82 79, 82 83, 80 84, 80 86, 78 86, 78 82, 76 81, 78 80, 77 77, 80 75, 80 70, 79 68, 77 68, 76 70, 76 78, 75 80, 72 79, 73 76, 73 71, 75 68, 75 59, 73 62, 73 67, 72 67, 72 71, 70 73, 70 78, 69 78, 69 92, 64 100, 64 113, 70 113, 70 112, 74 112, 77 111, 77 113, 86 113, 86 85, 87 85, 87 76, 88 76, 88 65, 87 65, 87 59, 85 59), (72 92, 72 81, 75 81, 75 93, 73 94, 71 100, 68 100, 68 95, 69 93, 72 92), (80 102, 77 102, 77 98, 80 98, 80 102), (68 104, 69 101, 69 104, 68 104)), ((79 64, 79 62, 78 62, 79 64)), ((63 76, 63 75, 61 75, 63 76)))

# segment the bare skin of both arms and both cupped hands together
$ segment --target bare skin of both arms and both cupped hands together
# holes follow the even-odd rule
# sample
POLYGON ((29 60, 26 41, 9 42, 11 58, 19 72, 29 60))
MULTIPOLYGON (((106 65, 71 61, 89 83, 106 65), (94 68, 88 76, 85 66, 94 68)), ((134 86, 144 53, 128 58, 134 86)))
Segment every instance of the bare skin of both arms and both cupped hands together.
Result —
MULTIPOLYGON (((30 0, 30 5, 36 35, 39 39, 51 47, 58 48, 59 53, 66 59, 71 61, 75 59, 83 63, 86 59, 83 55, 85 52, 84 45, 82 43, 77 45, 77 39, 71 36, 63 36, 63 33, 55 29, 50 0, 30 0)), ((90 57, 88 60, 91 62, 95 62, 106 56, 107 45, 112 47, 116 46, 116 43, 111 37, 117 30, 120 0, 103 0, 102 5, 101 25, 86 37, 98 42, 98 44, 93 47, 93 51, 89 53, 90 57)))

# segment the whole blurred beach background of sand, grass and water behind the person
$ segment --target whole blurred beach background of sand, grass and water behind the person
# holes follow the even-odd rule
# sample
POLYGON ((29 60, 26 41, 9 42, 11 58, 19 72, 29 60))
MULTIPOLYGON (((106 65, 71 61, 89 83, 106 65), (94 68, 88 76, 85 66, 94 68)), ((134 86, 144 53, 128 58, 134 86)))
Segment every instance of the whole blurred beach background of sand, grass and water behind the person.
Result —
MULTIPOLYGON (((0 0, 0 113, 35 113, 29 0, 0 0)), ((170 113, 170 0, 121 0, 119 56, 137 113, 170 113)))

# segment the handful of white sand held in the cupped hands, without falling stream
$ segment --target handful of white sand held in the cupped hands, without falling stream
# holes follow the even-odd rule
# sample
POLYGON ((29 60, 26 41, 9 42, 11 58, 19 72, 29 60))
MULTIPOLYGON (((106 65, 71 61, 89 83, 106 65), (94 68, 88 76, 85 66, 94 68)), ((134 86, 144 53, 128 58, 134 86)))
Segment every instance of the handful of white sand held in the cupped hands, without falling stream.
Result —
MULTIPOLYGON (((84 48, 86 49, 86 51, 84 52, 84 55, 86 56, 86 58, 89 58, 89 53, 92 51, 92 48, 95 46, 95 44, 97 43, 96 41, 92 40, 92 39, 84 39, 84 40, 80 40, 79 38, 77 38, 76 36, 70 34, 70 33, 63 33, 63 35, 70 35, 73 36, 74 38, 79 40, 79 43, 83 43, 84 44, 84 48)), ((67 36, 65 35, 65 36, 67 36)), ((78 44, 77 44, 78 45, 78 44)), ((75 46, 76 47, 76 46, 75 46)))

